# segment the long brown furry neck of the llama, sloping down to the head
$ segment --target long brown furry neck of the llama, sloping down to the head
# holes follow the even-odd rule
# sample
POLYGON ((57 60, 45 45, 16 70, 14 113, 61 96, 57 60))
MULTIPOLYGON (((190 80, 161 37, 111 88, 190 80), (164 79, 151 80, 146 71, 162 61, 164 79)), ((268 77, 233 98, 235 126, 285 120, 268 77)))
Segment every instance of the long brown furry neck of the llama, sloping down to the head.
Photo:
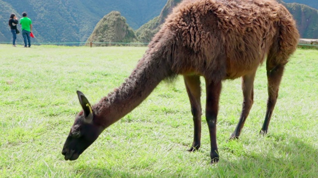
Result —
MULTIPOLYGON (((162 56, 162 55, 161 55, 162 56)), ((137 67, 118 89, 94 105, 98 124, 107 128, 136 108, 171 72, 160 57, 145 54, 137 67)))

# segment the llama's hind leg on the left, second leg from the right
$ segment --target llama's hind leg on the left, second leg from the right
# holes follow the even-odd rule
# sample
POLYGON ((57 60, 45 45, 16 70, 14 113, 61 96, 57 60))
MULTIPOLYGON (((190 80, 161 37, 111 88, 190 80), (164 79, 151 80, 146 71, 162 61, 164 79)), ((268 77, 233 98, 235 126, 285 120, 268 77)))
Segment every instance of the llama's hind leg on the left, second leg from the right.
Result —
POLYGON ((239 138, 239 134, 244 126, 245 120, 249 114, 250 108, 253 105, 253 97, 254 97, 254 78, 255 78, 256 70, 251 74, 245 75, 242 77, 242 91, 243 91, 243 104, 242 104, 242 112, 239 117, 239 123, 231 135, 230 139, 239 138))

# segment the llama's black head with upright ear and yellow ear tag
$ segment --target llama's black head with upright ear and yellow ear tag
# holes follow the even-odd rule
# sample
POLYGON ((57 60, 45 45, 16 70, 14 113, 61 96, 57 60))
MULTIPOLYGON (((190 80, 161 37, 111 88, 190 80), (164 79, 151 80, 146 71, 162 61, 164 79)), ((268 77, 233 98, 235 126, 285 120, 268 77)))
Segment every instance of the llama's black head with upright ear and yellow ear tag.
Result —
POLYGON ((79 155, 91 145, 102 132, 102 128, 94 124, 94 114, 87 98, 77 91, 79 103, 83 110, 76 116, 75 122, 68 135, 62 154, 65 160, 76 160, 79 155))

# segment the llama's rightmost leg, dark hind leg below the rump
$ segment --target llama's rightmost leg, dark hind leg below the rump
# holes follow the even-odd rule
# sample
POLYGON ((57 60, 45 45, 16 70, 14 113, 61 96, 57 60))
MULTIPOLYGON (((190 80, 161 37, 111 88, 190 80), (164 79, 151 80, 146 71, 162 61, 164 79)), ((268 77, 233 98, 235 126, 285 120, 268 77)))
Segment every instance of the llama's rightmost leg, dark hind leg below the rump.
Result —
MULTIPOLYGON (((287 62, 286 62, 287 63, 287 62)), ((262 130, 260 134, 267 134, 267 129, 269 121, 272 117, 273 110, 278 97, 279 85, 284 73, 285 63, 282 64, 272 64, 270 60, 267 61, 267 90, 268 90, 268 100, 267 100, 267 110, 265 115, 265 120, 263 123, 262 130)))

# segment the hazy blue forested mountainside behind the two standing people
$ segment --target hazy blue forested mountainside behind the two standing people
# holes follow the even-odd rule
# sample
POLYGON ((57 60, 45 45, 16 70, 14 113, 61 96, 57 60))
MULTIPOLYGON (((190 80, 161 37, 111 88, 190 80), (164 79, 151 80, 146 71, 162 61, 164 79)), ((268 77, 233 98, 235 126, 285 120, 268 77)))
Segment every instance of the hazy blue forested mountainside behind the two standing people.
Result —
MULTIPOLYGON (((0 0, 0 42, 10 42, 11 13, 28 13, 36 36, 33 42, 85 42, 97 22, 113 10, 138 29, 158 16, 166 0, 0 0)), ((21 28, 21 26, 19 26, 21 28)), ((21 35, 18 35, 21 42, 21 35)))

